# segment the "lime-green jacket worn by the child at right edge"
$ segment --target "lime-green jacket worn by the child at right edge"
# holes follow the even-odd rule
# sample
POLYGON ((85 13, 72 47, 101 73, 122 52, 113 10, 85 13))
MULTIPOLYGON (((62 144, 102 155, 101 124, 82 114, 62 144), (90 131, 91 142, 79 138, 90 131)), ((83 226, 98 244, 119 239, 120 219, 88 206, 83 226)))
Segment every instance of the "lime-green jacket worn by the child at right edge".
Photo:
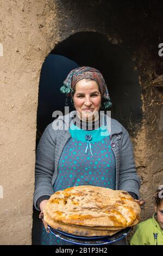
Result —
POLYGON ((155 215, 137 225, 130 245, 163 245, 163 229, 155 220, 155 215))

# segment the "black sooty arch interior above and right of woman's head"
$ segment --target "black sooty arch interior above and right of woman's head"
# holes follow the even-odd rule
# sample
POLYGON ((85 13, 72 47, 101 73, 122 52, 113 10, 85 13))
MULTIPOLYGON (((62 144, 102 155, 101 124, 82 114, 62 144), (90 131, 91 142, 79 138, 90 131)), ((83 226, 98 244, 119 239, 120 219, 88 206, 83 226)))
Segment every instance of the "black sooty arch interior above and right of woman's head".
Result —
POLYGON ((97 68, 108 86, 111 117, 135 133, 142 119, 141 87, 134 61, 121 47, 98 32, 78 32, 61 41, 51 52, 79 64, 97 68))

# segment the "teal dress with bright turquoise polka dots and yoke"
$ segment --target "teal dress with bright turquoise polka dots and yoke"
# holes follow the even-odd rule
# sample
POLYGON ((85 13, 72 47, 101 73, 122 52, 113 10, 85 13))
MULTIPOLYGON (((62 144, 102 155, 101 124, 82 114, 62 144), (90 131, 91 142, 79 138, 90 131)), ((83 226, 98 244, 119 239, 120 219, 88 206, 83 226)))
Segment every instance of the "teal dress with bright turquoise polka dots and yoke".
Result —
MULTIPOLYGON (((72 123, 70 134, 71 138, 59 160, 54 192, 86 184, 115 189, 116 163, 108 131, 103 126, 95 130, 82 130, 72 123)), ((42 244, 72 245, 46 233, 45 229, 42 244)))

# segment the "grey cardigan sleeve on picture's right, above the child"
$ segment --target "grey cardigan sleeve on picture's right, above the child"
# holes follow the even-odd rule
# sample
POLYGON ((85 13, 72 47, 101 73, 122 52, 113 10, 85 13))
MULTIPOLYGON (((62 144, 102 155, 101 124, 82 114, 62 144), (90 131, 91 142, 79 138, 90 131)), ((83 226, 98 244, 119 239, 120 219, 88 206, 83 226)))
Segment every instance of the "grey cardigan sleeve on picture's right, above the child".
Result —
POLYGON ((136 174, 133 145, 127 130, 122 127, 121 160, 118 189, 133 192, 139 198, 140 178, 136 174))

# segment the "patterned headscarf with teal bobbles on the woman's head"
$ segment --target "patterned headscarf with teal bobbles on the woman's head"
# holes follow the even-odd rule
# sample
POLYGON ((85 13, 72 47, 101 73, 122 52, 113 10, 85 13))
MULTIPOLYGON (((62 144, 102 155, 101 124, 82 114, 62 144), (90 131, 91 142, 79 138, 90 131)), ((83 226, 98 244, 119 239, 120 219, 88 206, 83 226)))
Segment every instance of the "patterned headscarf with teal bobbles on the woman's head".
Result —
POLYGON ((71 93, 73 92, 74 86, 77 84, 77 82, 85 78, 91 78, 97 82, 102 97, 104 98, 105 109, 109 108, 112 103, 110 102, 108 88, 105 84, 103 75, 95 68, 79 67, 71 70, 71 72, 67 75, 67 78, 64 80, 64 85, 60 88, 60 91, 62 93, 66 93, 67 96, 71 96, 71 93))

